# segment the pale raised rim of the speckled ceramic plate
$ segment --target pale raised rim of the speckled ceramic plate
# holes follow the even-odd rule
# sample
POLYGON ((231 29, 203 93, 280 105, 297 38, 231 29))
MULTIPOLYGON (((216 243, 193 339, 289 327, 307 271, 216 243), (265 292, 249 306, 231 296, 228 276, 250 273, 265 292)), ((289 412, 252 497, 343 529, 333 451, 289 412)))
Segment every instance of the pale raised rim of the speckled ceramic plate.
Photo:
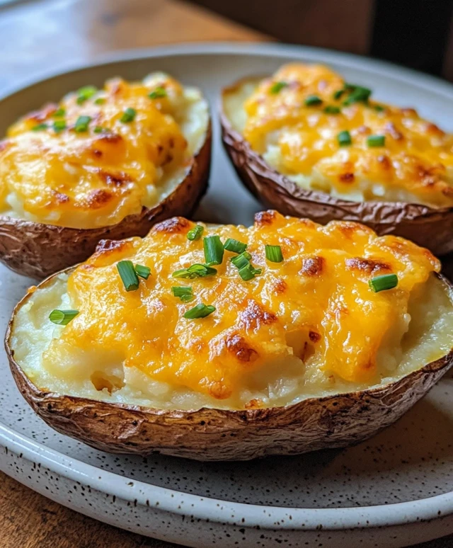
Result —
MULTIPOLYGON (((273 57, 306 57, 311 62, 335 63, 343 67, 359 69, 376 76, 382 74, 404 84, 415 86, 423 91, 440 94, 453 100, 453 85, 446 81, 423 74, 413 69, 400 67, 379 59, 369 59, 346 52, 307 47, 299 45, 274 44, 272 42, 181 42, 176 45, 117 50, 93 57, 91 62, 65 63, 50 71, 43 71, 31 77, 21 79, 13 86, 0 91, 0 101, 26 88, 40 84, 66 74, 117 62, 164 57, 186 57, 190 55, 244 55, 273 57)), ((32 462, 67 477, 73 481, 89 484, 103 493, 108 492, 126 501, 137 501, 142 505, 154 506, 152 500, 159 501, 160 510, 183 515, 185 508, 195 518, 209 519, 217 523, 241 527, 261 527, 273 530, 344 530, 355 528, 374 528, 382 526, 404 525, 416 520, 431 520, 453 513, 453 491, 437 496, 420 498, 401 503, 386 505, 348 507, 348 508, 287 508, 281 506, 260 506, 248 503, 236 503, 217 498, 208 498, 183 491, 148 484, 144 481, 131 481, 125 476, 99 469, 92 464, 71 459, 63 453, 42 445, 13 428, 0 422, 0 445, 23 455, 32 462), (77 468, 74 468, 74 462, 77 468), (131 485, 132 483, 132 485, 131 485), (108 486, 108 488, 107 488, 108 486), (175 496, 176 495, 176 496, 175 496), (183 501, 183 503, 181 503, 183 501), (288 520, 288 515, 292 516, 288 520)))

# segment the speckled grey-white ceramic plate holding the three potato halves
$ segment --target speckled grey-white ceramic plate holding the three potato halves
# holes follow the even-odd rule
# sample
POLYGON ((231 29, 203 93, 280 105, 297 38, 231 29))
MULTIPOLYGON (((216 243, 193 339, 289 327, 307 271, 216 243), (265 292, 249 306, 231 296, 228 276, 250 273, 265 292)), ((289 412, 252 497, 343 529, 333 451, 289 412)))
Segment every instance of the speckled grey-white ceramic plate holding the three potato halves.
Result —
MULTIPOLYGON (((326 62, 415 106, 453 130, 453 87, 430 76, 351 55, 285 45, 178 45, 123 52, 11 90, 0 99, 0 135, 18 115, 84 84, 164 69, 205 90, 290 59, 326 62)), ((210 191, 197 217, 251 224, 258 203, 242 188, 219 142, 214 113, 210 191)), ((30 280, 0 267, 0 329, 30 280)), ((398 423, 348 450, 258 462, 202 464, 118 457, 48 428, 25 404, 0 356, 0 468, 70 508, 125 529, 191 547, 402 547, 453 532, 453 377, 398 423)))

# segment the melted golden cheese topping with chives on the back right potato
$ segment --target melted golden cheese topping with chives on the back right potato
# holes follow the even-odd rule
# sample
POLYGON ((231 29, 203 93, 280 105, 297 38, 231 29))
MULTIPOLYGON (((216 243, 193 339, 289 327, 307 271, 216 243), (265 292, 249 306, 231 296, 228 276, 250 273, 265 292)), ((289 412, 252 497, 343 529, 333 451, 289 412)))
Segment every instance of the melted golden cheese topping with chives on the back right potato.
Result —
POLYGON ((288 64, 246 101, 243 135, 260 154, 276 147, 274 167, 314 190, 452 205, 453 136, 370 93, 327 67, 288 64))

